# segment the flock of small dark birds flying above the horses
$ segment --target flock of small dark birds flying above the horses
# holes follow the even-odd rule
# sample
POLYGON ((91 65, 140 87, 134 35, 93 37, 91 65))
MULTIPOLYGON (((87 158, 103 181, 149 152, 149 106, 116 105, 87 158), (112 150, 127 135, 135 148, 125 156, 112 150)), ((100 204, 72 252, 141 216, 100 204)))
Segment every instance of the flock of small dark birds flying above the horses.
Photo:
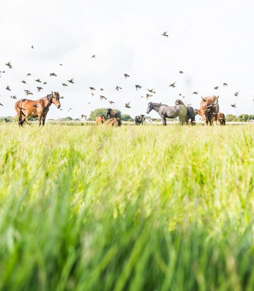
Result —
MULTIPOLYGON (((168 38, 168 37, 169 37, 168 32, 164 32, 164 33, 162 34, 162 36, 168 38)), ((32 45, 31 48, 32 48, 32 49, 35 49, 34 45, 32 45)), ((93 54, 93 55, 91 56, 91 58, 92 58, 92 59, 95 59, 95 58, 96 58, 96 54, 93 54)), ((6 65, 9 69, 13 69, 13 67, 12 67, 12 63, 11 63, 11 62, 6 63, 5 65, 6 65)), ((59 64, 59 65, 60 65, 60 66, 63 66, 62 64, 59 64)), ((6 73, 5 70, 0 71, 0 77, 1 77, 1 74, 5 74, 5 73, 6 73)), ((182 74, 184 74, 184 72, 180 70, 180 71, 179 71, 179 74, 182 75, 182 74)), ((26 77, 29 77, 29 76, 31 76, 31 73, 27 73, 26 77)), ((130 76, 129 74, 127 74, 127 73, 124 73, 123 76, 124 76, 125 79, 131 77, 131 76, 130 76)), ((52 72, 52 73, 49 73, 49 77, 57 77, 57 75, 56 75, 56 73, 52 72)), ((36 81, 37 83, 41 83, 42 85, 47 85, 47 81, 42 82, 40 78, 35 79, 35 81, 36 81)), ((25 80, 21 80, 21 82, 22 82, 23 84, 27 84, 25 80)), ((67 79, 65 82, 63 82, 63 83, 61 83, 61 84, 62 84, 63 87, 67 87, 67 86, 70 85, 70 84, 74 84, 74 78, 71 78, 70 80, 67 79)), ((223 87, 225 88, 226 86, 228 86, 228 84, 224 82, 224 83, 223 83, 223 87)), ((175 87, 176 87, 176 81, 173 82, 173 83, 170 83, 170 84, 169 84, 169 87, 170 87, 170 88, 175 88, 175 87)), ((136 88, 136 91, 138 91, 138 90, 142 89, 142 86, 139 85, 139 84, 136 84, 136 85, 135 85, 135 88, 136 88)), ((6 89, 7 91, 12 91, 9 85, 7 85, 5 89, 6 89)), ((91 90, 91 96, 94 96, 94 93, 93 93, 93 92, 96 91, 96 88, 94 88, 94 87, 91 86, 91 87, 89 87, 89 89, 91 90)), ((215 86, 214 89, 215 89, 215 90, 218 90, 218 89, 219 89, 219 86, 215 86)), ((41 92, 42 90, 43 90, 43 87, 42 87, 41 85, 38 85, 38 86, 37 86, 37 91, 38 91, 38 92, 41 92)), ((100 90, 101 94, 103 94, 102 92, 104 91, 104 89, 103 89, 103 88, 100 88, 99 90, 100 90)), ((119 90, 122 90, 122 88, 121 88, 120 86, 116 86, 116 87, 115 87, 115 90, 116 90, 116 91, 119 91, 119 90)), ((141 96, 141 98, 145 98, 146 100, 148 100, 149 98, 153 97, 154 94, 156 94, 156 93, 155 93, 155 88, 153 88, 153 89, 146 89, 146 90, 147 90, 148 92, 145 93, 144 96, 141 96)), ((24 93, 25 93, 25 96, 34 95, 34 94, 33 94, 31 91, 29 91, 29 90, 24 90, 24 93)), ((192 94, 194 94, 194 95, 198 95, 198 94, 199 94, 199 91, 194 91, 192 94)), ((237 92, 234 93, 234 96, 237 97, 238 95, 239 95, 239 91, 237 91, 237 92)), ((1 96, 1 95, 0 95, 0 96, 1 96)), ((180 98, 185 98, 185 96, 183 96, 182 94, 179 94, 179 96, 180 96, 180 98)), ((12 98, 12 99, 17 99, 17 96, 15 96, 15 95, 11 95, 11 98, 12 98)), ((62 97, 60 97, 60 98, 63 99, 64 97, 62 96, 62 97)), ((104 95, 100 95, 100 100, 107 100, 107 99, 108 99, 108 98, 105 97, 104 95)), ((253 100, 253 101, 254 101, 254 100, 253 100)), ((115 102, 112 101, 112 100, 108 100, 108 102, 109 102, 110 105, 112 105, 112 104, 115 103, 115 102)), ((89 102, 88 104, 90 104, 90 102, 89 102)), ((126 102, 126 103, 125 103, 125 107, 126 107, 126 108, 132 108, 132 106, 130 106, 130 104, 131 104, 130 101, 129 101, 129 102, 126 102)), ((187 105, 191 105, 191 104, 187 104, 187 105)), ((0 106, 3 106, 3 104, 0 103, 0 106)), ((236 103, 235 103, 235 104, 231 104, 231 106, 234 107, 234 108, 236 108, 236 103)), ((62 110, 62 109, 60 109, 60 110, 62 110)), ((68 111, 70 111, 70 110, 72 110, 72 108, 69 108, 69 109, 68 109, 68 111)), ((82 118, 86 118, 86 115, 85 115, 85 114, 82 114, 82 115, 81 115, 81 119, 82 119, 82 118)))

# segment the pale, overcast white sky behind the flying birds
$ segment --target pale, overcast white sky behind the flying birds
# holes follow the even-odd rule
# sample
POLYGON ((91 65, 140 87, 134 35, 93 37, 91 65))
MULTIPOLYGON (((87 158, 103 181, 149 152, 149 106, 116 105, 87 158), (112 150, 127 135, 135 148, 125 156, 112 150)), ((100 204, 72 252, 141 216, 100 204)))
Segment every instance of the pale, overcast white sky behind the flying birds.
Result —
POLYGON ((33 100, 51 91, 64 96, 62 110, 51 105, 47 119, 80 118, 100 107, 135 117, 145 114, 150 101, 174 105, 179 94, 194 108, 201 96, 216 95, 221 112, 253 114, 253 15, 251 0, 0 0, 0 71, 6 72, 0 73, 0 116, 16 115, 10 96, 25 98, 23 90, 33 92, 26 97, 33 100), (162 36, 165 31, 169 37, 162 36), (5 65, 9 61, 13 69, 5 65), (52 72, 57 77, 49 77, 52 72), (67 82, 71 78, 74 84, 67 82), (176 87, 169 87, 173 82, 176 87), (141 98, 153 88, 148 101, 141 98), (125 108, 129 101, 131 108, 125 108))

